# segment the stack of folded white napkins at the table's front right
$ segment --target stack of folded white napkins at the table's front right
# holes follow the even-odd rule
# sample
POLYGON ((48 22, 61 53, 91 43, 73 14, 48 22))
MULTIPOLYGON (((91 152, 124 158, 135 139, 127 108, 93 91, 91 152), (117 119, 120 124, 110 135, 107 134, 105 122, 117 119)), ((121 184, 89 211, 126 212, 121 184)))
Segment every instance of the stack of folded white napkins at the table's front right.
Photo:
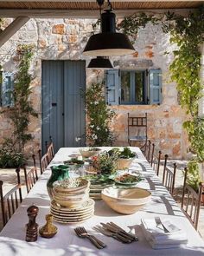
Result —
POLYGON ((155 219, 142 219, 141 222, 144 236, 153 249, 175 248, 188 242, 186 233, 170 220, 163 220, 163 225, 169 230, 168 233, 164 232, 163 226, 156 226, 155 219))

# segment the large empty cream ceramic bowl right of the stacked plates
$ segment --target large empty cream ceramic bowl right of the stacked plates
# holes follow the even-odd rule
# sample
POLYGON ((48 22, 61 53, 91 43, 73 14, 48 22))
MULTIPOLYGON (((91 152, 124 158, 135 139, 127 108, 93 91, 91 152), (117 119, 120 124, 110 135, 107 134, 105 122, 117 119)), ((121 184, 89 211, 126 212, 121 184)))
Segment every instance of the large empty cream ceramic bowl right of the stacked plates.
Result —
POLYGON ((140 210, 149 200, 148 190, 135 187, 130 189, 107 187, 101 197, 117 213, 132 214, 140 210))

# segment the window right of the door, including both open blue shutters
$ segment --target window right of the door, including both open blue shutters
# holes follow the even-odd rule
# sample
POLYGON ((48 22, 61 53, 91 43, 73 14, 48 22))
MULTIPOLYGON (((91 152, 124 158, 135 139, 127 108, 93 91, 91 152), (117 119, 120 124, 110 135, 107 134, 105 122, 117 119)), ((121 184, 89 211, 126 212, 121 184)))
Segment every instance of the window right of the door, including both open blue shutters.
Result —
POLYGON ((106 102, 109 105, 160 104, 160 69, 106 71, 106 102))

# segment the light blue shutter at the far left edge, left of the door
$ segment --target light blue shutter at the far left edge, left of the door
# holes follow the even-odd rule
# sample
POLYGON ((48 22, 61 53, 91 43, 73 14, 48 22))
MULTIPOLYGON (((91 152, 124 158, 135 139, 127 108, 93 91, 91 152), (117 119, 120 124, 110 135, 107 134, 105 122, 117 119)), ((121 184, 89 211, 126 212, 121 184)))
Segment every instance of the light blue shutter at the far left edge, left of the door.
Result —
POLYGON ((13 105, 12 91, 14 89, 14 75, 10 72, 2 73, 2 106, 13 105))

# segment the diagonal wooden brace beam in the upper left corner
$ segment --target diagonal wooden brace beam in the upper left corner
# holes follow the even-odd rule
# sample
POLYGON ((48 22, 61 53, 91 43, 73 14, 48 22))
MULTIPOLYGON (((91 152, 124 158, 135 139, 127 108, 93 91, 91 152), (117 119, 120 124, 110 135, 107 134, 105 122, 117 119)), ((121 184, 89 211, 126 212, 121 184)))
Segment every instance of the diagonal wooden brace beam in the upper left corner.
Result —
POLYGON ((29 21, 29 17, 27 16, 18 16, 16 19, 10 23, 8 27, 6 27, 0 33, 0 47, 6 43, 11 36, 13 36, 18 30, 22 28, 22 26, 29 21))

